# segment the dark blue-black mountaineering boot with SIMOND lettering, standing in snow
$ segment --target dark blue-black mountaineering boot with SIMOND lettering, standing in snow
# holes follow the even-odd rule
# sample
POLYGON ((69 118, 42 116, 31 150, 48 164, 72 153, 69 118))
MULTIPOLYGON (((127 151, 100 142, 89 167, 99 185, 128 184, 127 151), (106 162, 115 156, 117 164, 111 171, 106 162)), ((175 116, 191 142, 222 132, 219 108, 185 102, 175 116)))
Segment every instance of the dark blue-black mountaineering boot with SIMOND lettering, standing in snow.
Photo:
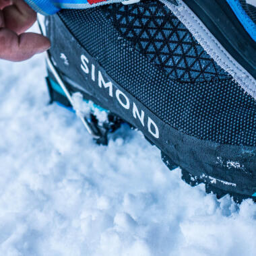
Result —
POLYGON ((256 9, 245 0, 141 0, 46 18, 54 101, 106 109, 82 119, 98 143, 123 121, 207 193, 256 199, 256 9))

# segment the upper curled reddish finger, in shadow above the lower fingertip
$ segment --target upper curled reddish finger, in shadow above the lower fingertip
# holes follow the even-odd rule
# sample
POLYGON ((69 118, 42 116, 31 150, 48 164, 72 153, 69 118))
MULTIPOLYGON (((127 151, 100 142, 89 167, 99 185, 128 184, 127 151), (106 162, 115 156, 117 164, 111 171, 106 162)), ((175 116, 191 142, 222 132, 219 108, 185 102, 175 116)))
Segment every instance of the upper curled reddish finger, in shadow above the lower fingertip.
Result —
POLYGON ((3 9, 3 15, 5 27, 17 34, 24 33, 36 22, 36 12, 23 0, 13 0, 13 5, 3 9))

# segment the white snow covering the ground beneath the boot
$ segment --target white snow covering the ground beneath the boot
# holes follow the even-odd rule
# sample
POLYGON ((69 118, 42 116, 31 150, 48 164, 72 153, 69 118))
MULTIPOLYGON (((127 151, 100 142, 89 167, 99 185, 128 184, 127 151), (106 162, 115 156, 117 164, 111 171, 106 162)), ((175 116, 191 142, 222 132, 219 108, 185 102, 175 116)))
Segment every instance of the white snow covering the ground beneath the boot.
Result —
POLYGON ((0 255, 255 255, 253 201, 190 187, 126 125, 97 146, 45 75, 0 61, 0 255))

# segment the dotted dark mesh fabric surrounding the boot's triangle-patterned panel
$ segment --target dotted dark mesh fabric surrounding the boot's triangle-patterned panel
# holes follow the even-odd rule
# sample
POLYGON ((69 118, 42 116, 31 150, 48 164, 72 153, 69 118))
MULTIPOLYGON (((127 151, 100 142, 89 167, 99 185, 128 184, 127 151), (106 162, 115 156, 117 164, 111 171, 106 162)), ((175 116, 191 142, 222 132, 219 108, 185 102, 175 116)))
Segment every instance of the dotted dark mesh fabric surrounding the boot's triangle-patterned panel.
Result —
MULTIPOLYGON (((157 20, 161 24, 164 20, 163 23, 166 25, 161 26, 168 27, 169 35, 177 35, 177 25, 179 28, 182 27, 179 22, 175 21, 177 19, 172 13, 166 13, 164 5, 159 1, 142 1, 134 5, 137 7, 133 8, 141 12, 153 6, 153 9, 159 9, 158 13, 168 15, 172 22, 168 22, 168 17, 157 20)), ((225 77, 224 71, 220 73, 225 78, 217 72, 216 75, 214 72, 209 73, 206 77, 204 73, 197 78, 190 74, 193 82, 189 75, 188 81, 185 82, 183 73, 191 73, 191 70, 184 72, 181 69, 183 73, 180 74, 176 66, 174 68, 177 71, 173 72, 172 67, 162 67, 161 63, 157 63, 157 58, 150 59, 148 54, 139 48, 139 44, 143 42, 129 40, 129 37, 123 35, 121 28, 117 28, 115 24, 113 25, 113 20, 109 20, 110 11, 113 11, 111 8, 64 10, 59 13, 59 16, 77 41, 92 57, 97 59, 115 82, 174 129, 199 139, 218 143, 256 146, 255 100, 245 94, 243 89, 232 80, 232 77, 225 77)), ((118 5, 113 8, 121 9, 118 5)), ((131 12, 129 8, 125 7, 129 10, 128 13, 131 12)), ((141 13, 140 17, 143 15, 141 13)), ((127 20, 129 17, 132 16, 127 14, 127 20)), ((130 22, 133 23, 135 20, 131 19, 130 22)), ((144 25, 139 25, 142 29, 143 26, 148 29, 148 25, 152 22, 150 18, 146 20, 144 25)), ((182 30, 186 28, 182 27, 182 30)), ((127 28, 125 31, 128 31, 127 28)), ((199 46, 189 31, 184 32, 193 40, 192 48, 195 45, 199 46)), ((174 42, 179 46, 184 44, 184 40, 174 42)), ((153 54, 155 55, 156 52, 154 51, 153 54)), ((172 59, 172 49, 169 55, 168 58, 172 59)), ((205 56, 205 53, 201 55, 205 56)), ((185 61, 186 58, 187 56, 182 55, 179 60, 185 61)), ((194 57, 194 59, 197 58, 194 57)), ((208 59, 207 63, 216 65, 211 59, 208 59)), ((216 68, 220 69, 217 66, 216 68)))

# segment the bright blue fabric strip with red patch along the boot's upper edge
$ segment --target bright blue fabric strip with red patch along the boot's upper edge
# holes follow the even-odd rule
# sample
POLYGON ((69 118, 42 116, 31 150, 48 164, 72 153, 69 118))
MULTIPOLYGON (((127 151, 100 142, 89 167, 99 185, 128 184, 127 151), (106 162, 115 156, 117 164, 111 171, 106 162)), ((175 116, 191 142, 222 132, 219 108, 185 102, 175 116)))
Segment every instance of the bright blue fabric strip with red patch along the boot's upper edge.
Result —
POLYGON ((34 11, 51 15, 61 9, 87 9, 110 3, 137 3, 139 0, 25 0, 34 11))

